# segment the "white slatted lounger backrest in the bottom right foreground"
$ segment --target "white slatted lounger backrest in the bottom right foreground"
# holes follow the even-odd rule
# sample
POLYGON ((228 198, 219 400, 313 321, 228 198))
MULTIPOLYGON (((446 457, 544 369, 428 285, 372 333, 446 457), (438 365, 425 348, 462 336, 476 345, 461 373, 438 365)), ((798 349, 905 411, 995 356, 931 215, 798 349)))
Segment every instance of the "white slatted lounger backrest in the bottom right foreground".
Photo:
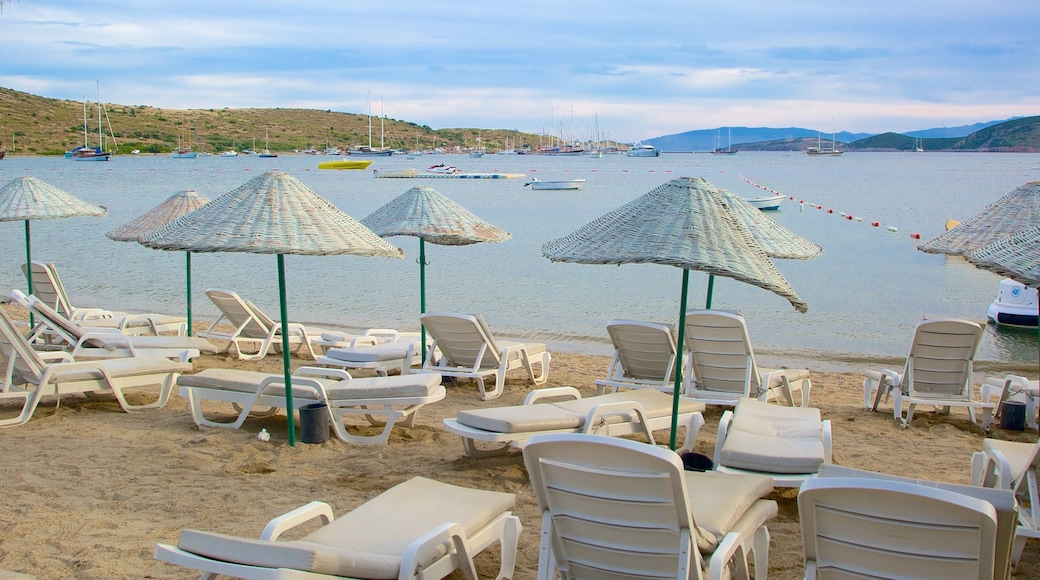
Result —
POLYGON ((828 477, 802 484, 798 509, 807 578, 994 578, 997 513, 981 499, 828 477))

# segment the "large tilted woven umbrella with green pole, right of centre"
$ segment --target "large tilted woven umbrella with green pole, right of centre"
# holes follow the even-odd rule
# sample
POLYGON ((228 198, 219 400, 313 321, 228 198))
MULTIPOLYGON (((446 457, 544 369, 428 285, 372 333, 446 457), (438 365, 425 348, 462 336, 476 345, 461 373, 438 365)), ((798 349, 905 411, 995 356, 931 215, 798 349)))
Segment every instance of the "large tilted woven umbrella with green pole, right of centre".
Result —
MULTIPOLYGON (((700 178, 679 178, 621 206, 577 231, 546 243, 553 262, 665 264, 682 269, 678 344, 682 352, 690 270, 724 275, 763 288, 799 312, 806 305, 770 261, 730 197, 700 178)), ((671 447, 675 448, 681 368, 675 373, 671 447)))

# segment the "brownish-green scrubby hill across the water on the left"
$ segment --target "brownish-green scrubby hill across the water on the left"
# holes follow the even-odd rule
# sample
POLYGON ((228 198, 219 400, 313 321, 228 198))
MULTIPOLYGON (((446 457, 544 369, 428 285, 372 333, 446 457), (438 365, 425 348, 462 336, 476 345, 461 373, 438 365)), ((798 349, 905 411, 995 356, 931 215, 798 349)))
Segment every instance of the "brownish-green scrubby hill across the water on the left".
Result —
MULTIPOLYGON (((0 87, 0 141, 11 153, 63 155, 83 144, 83 109, 78 101, 47 99, 0 87)), ((116 153, 140 150, 166 153, 179 140, 211 154, 231 149, 269 149, 288 152, 305 149, 346 149, 368 144, 368 116, 316 109, 161 109, 145 105, 103 103, 105 149, 114 134, 116 153)), ((98 105, 86 103, 88 139, 98 142, 98 105)), ((491 151, 538 146, 538 135, 498 129, 439 129, 394 118, 372 120, 372 140, 394 149, 475 148, 491 151), (514 144, 515 143, 515 144, 514 144)))

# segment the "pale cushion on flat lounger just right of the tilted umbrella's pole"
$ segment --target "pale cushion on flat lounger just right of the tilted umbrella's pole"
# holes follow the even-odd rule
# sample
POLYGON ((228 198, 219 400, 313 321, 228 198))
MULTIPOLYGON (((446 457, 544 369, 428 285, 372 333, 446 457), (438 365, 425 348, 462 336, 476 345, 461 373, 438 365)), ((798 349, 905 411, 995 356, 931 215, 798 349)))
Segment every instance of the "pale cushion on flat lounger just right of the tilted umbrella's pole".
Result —
POLYGON ((722 448, 722 465, 772 473, 820 469, 825 450, 818 408, 740 403, 722 448))

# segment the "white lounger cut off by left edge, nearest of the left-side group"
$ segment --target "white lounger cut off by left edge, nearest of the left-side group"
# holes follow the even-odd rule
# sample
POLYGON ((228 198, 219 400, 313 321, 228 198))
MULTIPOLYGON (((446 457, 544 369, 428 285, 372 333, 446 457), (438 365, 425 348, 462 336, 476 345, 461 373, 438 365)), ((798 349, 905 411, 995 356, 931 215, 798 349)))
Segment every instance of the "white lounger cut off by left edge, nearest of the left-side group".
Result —
POLYGON ((110 392, 128 413, 158 408, 166 404, 177 375, 191 370, 190 363, 162 357, 76 361, 63 351, 36 352, 2 310, 0 357, 6 364, 0 400, 22 401, 18 416, 0 420, 0 427, 27 422, 47 395, 60 398, 67 393, 110 392), (150 403, 131 404, 124 395, 128 389, 154 386, 159 387, 159 395, 150 403))

